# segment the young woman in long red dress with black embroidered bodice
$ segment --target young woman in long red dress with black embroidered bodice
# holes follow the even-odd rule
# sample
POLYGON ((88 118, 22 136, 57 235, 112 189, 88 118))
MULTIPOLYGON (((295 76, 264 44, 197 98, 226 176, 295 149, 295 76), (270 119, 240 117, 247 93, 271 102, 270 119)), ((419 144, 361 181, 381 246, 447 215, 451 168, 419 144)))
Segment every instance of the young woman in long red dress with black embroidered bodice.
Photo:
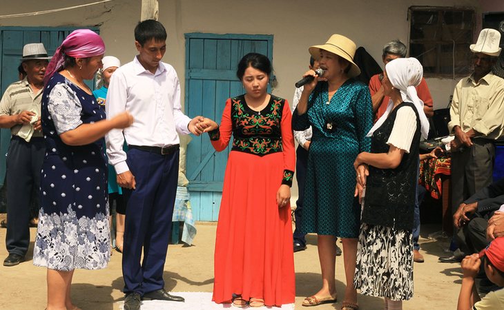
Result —
POLYGON ((269 59, 246 54, 237 76, 245 94, 230 98, 220 126, 206 128, 229 154, 217 236, 213 301, 235 306, 290 304, 295 298, 291 185, 295 167, 287 100, 268 94, 269 59))

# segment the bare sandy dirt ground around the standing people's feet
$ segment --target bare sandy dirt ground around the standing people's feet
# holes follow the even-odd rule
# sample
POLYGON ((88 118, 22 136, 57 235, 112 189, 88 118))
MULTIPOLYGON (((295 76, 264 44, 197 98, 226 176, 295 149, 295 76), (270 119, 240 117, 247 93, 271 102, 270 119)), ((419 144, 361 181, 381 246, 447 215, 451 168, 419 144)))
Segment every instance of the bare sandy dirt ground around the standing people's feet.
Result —
MULTIPOLYGON (((0 214, 0 219, 5 214, 0 214)), ((168 291, 212 291, 213 247, 215 223, 197 223, 197 236, 191 247, 170 245, 164 267, 164 279, 168 291)), ((32 228, 32 241, 36 229, 32 228)), ((414 298, 404 303, 404 309, 456 309, 458 291, 461 286, 461 269, 458 264, 438 263, 445 256, 443 247, 447 240, 432 240, 429 234, 440 230, 440 225, 424 225, 420 238, 422 264, 414 266, 414 298)), ((6 229, 0 229, 0 258, 8 255, 5 248, 6 229)), ((295 308, 304 309, 304 297, 319 289, 320 266, 316 247, 316 236, 307 236, 308 249, 295 253, 296 300, 295 308)), ((338 242, 340 245, 340 243, 338 242)), ((44 309, 46 307, 46 269, 32 265, 32 247, 26 262, 14 267, 0 266, 0 309, 44 309)), ((99 271, 75 271, 72 282, 72 300, 84 310, 119 309, 124 299, 121 271, 121 255, 114 251, 108 268, 99 271)), ((345 288, 342 258, 336 259, 336 286, 340 298, 336 304, 324 304, 316 310, 341 308, 345 288)), ((381 298, 358 296, 360 309, 383 309, 381 298)))

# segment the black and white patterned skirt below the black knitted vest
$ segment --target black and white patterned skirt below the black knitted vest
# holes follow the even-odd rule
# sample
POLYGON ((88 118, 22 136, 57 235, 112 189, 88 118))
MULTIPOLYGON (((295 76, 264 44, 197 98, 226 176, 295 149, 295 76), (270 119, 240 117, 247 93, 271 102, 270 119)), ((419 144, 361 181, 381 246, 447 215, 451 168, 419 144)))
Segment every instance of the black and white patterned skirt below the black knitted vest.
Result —
POLYGON ((411 231, 360 225, 353 285, 362 295, 391 300, 413 297, 411 231))

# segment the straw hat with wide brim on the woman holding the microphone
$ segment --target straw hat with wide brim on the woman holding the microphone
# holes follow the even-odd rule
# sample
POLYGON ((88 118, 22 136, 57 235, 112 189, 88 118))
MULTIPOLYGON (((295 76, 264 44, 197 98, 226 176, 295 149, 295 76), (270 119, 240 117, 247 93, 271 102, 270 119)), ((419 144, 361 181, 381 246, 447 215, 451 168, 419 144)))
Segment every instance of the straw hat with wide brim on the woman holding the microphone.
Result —
POLYGON ((353 55, 356 54, 356 49, 356 43, 353 43, 353 41, 347 37, 342 36, 341 34, 333 34, 324 45, 313 45, 308 49, 308 51, 311 56, 313 56, 313 59, 316 59, 317 61, 320 59, 320 50, 327 50, 327 52, 331 52, 343 59, 347 59, 351 65, 348 76, 355 77, 360 74, 358 65, 353 62, 353 55))

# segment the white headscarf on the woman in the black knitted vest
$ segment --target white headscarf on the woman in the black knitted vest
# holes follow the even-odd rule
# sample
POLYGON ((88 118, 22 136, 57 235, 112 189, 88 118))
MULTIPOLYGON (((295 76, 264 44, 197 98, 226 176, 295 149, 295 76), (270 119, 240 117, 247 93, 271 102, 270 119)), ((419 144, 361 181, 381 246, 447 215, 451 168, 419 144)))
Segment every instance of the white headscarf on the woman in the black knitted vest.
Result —
MULTIPOLYGON (((427 116, 425 116, 425 112, 423 112, 423 101, 418 98, 415 88, 420 84, 423 77, 423 67, 420 61, 416 58, 394 59, 385 65, 385 71, 387 72, 387 77, 392 86, 400 91, 400 96, 403 98, 403 101, 411 102, 415 105, 418 116, 420 116, 422 136, 423 138, 427 138, 429 134, 429 120, 427 120, 427 116)), ((394 103, 392 99, 390 99, 387 110, 382 117, 378 119, 371 130, 369 130, 367 136, 372 136, 373 132, 380 128, 393 107, 394 103)))

